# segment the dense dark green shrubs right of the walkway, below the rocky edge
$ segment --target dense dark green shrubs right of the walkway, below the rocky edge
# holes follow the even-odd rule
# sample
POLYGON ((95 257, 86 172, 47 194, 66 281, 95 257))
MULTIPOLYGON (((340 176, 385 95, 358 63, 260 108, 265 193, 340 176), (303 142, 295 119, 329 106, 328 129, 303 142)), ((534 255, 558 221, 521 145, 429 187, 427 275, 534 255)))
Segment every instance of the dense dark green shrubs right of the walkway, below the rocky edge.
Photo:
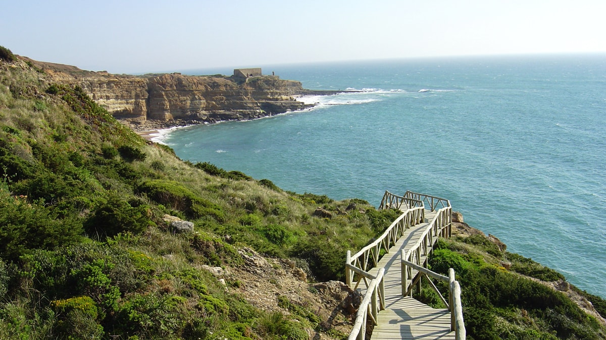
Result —
MULTIPOLYGON (((485 244, 481 239, 473 241, 485 244)), ((476 260, 481 257, 475 253, 464 256, 447 249, 443 241, 439 249, 430 256, 431 270, 446 273, 453 267, 457 280, 462 287, 462 304, 464 307, 467 335, 473 339, 532 338, 553 339, 551 332, 558 337, 599 338, 599 326, 591 322, 583 312, 564 294, 536 281, 507 272, 494 264, 476 260), (517 313, 504 313, 506 310, 524 309, 533 318, 532 324, 538 325, 536 332, 525 332, 507 328, 496 315, 505 318, 505 322, 518 324, 517 313)), ((451 241, 450 241, 451 242, 451 241)), ((516 255, 507 254, 514 261, 531 263, 516 255)), ((444 293, 444 292, 443 292, 444 293)), ((518 312, 519 313, 519 312, 518 312)), ((526 322, 526 321, 524 321, 526 322)))

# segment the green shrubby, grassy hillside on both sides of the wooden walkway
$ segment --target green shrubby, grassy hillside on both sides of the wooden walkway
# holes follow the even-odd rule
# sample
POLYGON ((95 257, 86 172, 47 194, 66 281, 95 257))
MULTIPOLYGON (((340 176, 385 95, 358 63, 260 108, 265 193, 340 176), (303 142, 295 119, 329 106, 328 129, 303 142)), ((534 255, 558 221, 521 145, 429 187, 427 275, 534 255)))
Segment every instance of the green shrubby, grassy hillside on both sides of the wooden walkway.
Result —
MULTIPOLYGON (((0 339, 307 339, 312 330, 343 338, 297 292, 279 296, 279 310, 259 309, 237 293, 255 286, 254 275, 224 285, 203 265, 243 267, 251 248, 290 259, 309 281, 342 280, 346 251, 397 215, 179 160, 80 88, 52 83, 0 49, 0 339), (176 232, 168 215, 193 222, 193 232, 176 232)), ((502 320, 519 328, 507 334, 528 339, 603 338, 602 326, 560 295, 520 301, 538 289, 526 281, 496 295, 495 283, 518 282, 518 267, 473 255, 473 242, 441 244, 432 266, 461 273, 470 338, 498 338, 502 320), (527 322, 514 313, 522 309, 545 318, 527 322), (574 325, 557 324, 568 319, 574 325)))

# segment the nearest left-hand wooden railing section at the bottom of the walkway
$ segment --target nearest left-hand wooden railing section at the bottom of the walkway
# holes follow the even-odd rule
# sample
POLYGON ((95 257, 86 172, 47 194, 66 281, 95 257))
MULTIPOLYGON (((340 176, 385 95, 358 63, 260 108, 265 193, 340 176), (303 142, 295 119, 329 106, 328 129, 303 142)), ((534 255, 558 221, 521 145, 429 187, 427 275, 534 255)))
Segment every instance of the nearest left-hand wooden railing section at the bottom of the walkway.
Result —
POLYGON ((377 324, 379 310, 385 309, 384 273, 385 268, 379 269, 377 276, 370 281, 368 290, 358 308, 358 313, 356 313, 356 322, 353 324, 348 340, 364 340, 368 318, 370 318, 373 325, 377 324))

